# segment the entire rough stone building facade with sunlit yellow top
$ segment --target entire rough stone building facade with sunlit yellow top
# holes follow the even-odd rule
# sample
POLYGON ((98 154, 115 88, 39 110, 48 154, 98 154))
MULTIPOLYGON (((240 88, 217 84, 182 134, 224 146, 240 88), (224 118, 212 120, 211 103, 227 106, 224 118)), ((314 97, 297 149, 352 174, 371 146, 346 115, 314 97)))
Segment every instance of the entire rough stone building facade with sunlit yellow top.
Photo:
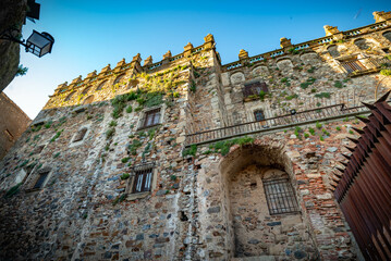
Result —
MULTIPOLYGON (((382 39, 381 33, 374 37, 382 39)), ((227 156, 217 145, 186 148, 185 135, 254 120, 259 107, 267 116, 301 109, 318 92, 359 89, 372 99, 377 75, 344 80, 329 45, 228 70, 210 39, 143 66, 137 54, 56 89, 0 162, 0 259, 357 257, 330 190, 343 146, 352 146, 352 125, 362 126, 357 120, 254 135, 253 142, 225 148, 227 156), (256 77, 272 92, 266 101, 244 100, 244 83, 256 77), (309 77, 315 82, 302 88, 309 77), (147 112, 158 108, 159 124, 143 128, 147 112), (85 137, 74 142, 83 128, 85 137), (134 194, 133 167, 145 162, 154 163, 151 189, 134 194), (289 176, 300 212, 269 213, 262 178, 270 169, 289 176), (34 189, 41 173, 48 173, 44 187, 34 189)), ((342 45, 351 42, 339 42, 340 52, 342 45)), ((366 51, 380 53, 374 48, 366 51)))

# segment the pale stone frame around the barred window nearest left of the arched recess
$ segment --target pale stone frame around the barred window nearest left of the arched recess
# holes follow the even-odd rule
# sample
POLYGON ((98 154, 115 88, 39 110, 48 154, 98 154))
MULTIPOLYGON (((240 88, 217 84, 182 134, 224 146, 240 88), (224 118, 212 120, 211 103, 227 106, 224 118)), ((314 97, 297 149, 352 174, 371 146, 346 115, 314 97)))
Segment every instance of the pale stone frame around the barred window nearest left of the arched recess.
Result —
POLYGON ((129 182, 126 184, 125 194, 127 200, 135 200, 145 198, 148 195, 152 194, 152 191, 157 188, 157 182, 158 182, 158 170, 156 167, 156 164, 154 162, 144 162, 137 165, 134 165, 131 167, 131 173, 129 177, 129 182), (137 172, 151 170, 151 177, 150 177, 150 188, 147 191, 134 191, 134 188, 136 186, 136 176, 137 172))

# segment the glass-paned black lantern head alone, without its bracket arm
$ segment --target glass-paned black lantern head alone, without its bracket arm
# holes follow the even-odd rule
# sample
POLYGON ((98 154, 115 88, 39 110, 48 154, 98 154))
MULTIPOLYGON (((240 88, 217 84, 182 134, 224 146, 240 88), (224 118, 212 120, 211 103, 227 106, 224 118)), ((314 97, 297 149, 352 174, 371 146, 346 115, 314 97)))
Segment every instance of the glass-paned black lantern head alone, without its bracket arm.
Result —
POLYGON ((26 41, 26 52, 32 52, 37 57, 44 57, 46 53, 51 52, 54 44, 54 38, 46 32, 38 33, 33 30, 33 34, 26 41))

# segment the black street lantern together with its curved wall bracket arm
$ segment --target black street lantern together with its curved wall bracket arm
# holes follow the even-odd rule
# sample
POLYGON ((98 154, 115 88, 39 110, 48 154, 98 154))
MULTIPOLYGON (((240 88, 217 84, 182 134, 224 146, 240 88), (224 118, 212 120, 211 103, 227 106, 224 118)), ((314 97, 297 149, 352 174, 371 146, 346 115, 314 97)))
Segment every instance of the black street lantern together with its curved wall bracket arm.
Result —
POLYGON ((15 37, 19 33, 20 30, 15 28, 4 30, 0 34, 0 39, 17 42, 26 48, 26 52, 32 52, 39 58, 51 52, 54 38, 48 33, 33 30, 33 34, 28 37, 26 44, 24 40, 20 40, 15 37))

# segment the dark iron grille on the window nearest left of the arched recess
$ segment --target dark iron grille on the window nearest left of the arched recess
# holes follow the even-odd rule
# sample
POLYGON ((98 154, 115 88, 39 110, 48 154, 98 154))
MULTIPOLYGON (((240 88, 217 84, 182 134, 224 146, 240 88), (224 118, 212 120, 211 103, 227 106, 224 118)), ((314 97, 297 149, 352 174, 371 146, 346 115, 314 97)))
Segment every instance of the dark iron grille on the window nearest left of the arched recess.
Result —
POLYGON ((145 163, 133 169, 134 181, 132 194, 150 191, 154 176, 154 164, 145 163))

